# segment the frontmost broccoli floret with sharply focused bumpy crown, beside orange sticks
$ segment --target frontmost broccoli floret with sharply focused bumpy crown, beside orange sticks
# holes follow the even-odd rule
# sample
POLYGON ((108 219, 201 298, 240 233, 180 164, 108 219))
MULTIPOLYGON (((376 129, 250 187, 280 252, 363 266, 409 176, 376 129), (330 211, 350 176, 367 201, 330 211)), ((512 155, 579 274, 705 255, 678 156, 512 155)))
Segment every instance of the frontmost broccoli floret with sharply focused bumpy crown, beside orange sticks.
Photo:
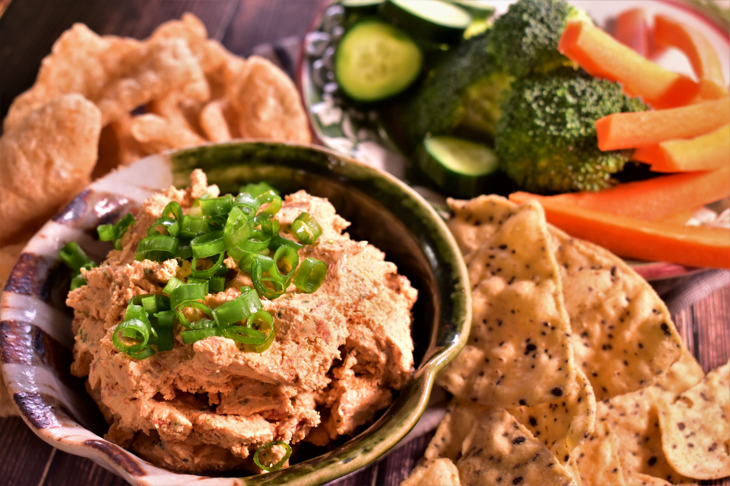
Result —
POLYGON ((536 193, 600 190, 612 185, 630 152, 602 152, 595 123, 618 112, 647 109, 618 83, 563 68, 512 84, 496 126, 502 170, 536 193))

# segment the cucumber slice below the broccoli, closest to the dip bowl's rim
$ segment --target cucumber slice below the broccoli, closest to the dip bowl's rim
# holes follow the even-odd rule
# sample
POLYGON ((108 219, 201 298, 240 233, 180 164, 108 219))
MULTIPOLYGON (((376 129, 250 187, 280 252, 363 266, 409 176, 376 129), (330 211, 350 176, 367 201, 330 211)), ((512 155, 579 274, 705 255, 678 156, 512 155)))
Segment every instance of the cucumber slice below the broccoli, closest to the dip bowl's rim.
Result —
POLYGON ((456 196, 476 196, 501 178, 491 147, 456 136, 427 136, 418 163, 441 190, 456 196))

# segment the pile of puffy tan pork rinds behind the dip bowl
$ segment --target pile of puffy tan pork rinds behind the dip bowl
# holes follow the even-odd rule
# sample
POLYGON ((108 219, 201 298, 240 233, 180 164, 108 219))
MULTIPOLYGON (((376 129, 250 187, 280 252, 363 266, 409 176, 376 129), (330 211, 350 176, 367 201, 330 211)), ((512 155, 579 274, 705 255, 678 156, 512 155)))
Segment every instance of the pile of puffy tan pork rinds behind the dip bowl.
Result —
MULTIPOLYGON (((0 138, 0 288, 30 236, 92 179, 145 155, 231 139, 310 142, 293 82, 233 55, 186 13, 149 39, 77 23, 9 107, 0 138)), ((0 416, 14 414, 0 379, 0 416)))

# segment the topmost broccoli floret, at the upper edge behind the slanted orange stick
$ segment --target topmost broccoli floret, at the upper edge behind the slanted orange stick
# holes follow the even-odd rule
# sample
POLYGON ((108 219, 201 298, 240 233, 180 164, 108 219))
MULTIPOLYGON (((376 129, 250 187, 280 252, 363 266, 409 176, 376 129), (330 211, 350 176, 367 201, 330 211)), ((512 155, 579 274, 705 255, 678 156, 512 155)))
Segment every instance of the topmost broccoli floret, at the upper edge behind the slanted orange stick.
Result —
POLYGON ((572 66, 558 52, 568 20, 592 23, 582 9, 564 0, 520 0, 494 21, 488 50, 513 77, 572 66))

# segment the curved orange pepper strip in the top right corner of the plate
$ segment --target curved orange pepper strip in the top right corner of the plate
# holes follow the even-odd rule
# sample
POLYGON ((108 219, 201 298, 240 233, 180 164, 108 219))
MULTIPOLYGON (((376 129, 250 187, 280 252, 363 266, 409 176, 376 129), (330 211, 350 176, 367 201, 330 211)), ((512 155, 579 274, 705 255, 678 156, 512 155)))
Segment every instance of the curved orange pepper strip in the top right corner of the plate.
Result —
POLYGON ((692 64, 692 69, 701 80, 700 94, 704 99, 726 96, 720 59, 702 34, 666 15, 657 15, 654 18, 654 39, 657 45, 677 47, 685 53, 692 64))

